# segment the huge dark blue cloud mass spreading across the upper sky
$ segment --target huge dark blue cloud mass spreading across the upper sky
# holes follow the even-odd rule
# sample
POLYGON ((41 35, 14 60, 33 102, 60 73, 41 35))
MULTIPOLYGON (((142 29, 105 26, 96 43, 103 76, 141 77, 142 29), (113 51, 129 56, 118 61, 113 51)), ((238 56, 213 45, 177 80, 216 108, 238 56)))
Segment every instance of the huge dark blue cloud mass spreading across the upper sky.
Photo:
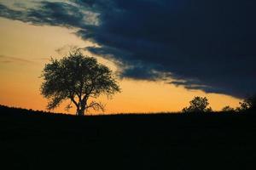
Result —
POLYGON ((118 63, 123 77, 172 75, 172 84, 189 89, 236 97, 256 93, 255 1, 74 2, 44 2, 26 14, 1 5, 0 15, 79 28, 77 35, 101 45, 87 49, 118 63))

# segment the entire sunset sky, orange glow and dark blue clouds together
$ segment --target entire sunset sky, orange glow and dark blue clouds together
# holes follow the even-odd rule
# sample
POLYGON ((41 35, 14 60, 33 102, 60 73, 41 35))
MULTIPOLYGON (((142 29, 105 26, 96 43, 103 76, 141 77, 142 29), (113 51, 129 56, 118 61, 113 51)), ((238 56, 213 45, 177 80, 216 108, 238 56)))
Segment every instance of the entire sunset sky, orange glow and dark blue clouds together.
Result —
MULTIPOLYGON (((253 0, 0 0, 0 104, 45 110, 40 75, 73 48, 119 74, 106 112, 212 109, 256 93, 253 0)), ((55 112, 64 112, 65 103, 55 112)), ((70 112, 74 112, 71 110, 70 112)), ((98 112, 91 111, 90 114, 98 112)))

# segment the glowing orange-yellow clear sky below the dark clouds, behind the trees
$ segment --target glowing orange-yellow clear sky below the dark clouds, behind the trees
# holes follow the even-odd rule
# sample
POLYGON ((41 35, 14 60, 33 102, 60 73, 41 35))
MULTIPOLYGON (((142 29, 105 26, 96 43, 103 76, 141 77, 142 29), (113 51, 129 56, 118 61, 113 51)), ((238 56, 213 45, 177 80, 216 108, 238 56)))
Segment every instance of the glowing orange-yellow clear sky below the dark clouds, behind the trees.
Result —
MULTIPOLYGON (((92 44, 76 37, 73 32, 74 30, 67 28, 31 26, 0 18, 0 104, 45 110, 47 101, 39 94, 42 82, 39 76, 44 64, 49 62, 50 56, 61 59, 69 46, 84 48, 92 44)), ((99 60, 115 70, 110 61, 99 60)), ((225 105, 236 107, 239 102, 239 99, 227 95, 205 94, 166 82, 123 79, 119 80, 119 85, 122 92, 114 95, 113 99, 99 98, 107 104, 104 114, 181 111, 195 95, 207 96, 214 111, 225 105)), ((65 105, 61 105, 55 111, 67 113, 64 107, 65 105)), ((96 112, 91 111, 90 114, 96 112)))

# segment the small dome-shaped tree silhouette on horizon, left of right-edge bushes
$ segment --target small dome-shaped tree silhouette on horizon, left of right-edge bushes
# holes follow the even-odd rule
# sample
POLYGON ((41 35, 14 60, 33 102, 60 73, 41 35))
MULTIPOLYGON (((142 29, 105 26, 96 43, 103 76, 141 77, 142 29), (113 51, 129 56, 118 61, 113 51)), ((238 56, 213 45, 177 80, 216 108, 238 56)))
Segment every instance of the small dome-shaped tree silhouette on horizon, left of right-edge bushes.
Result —
POLYGON ((209 105, 208 99, 206 97, 202 98, 199 96, 195 96, 194 99, 192 99, 189 102, 189 107, 183 108, 183 112, 211 112, 212 108, 207 107, 209 105))

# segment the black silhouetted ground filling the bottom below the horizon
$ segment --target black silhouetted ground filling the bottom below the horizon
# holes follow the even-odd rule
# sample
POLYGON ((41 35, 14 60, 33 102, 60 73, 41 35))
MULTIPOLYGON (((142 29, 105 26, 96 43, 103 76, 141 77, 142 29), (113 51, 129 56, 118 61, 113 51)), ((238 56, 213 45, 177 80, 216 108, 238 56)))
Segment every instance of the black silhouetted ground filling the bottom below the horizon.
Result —
POLYGON ((0 169, 255 169, 256 115, 65 116, 0 106, 0 169))

